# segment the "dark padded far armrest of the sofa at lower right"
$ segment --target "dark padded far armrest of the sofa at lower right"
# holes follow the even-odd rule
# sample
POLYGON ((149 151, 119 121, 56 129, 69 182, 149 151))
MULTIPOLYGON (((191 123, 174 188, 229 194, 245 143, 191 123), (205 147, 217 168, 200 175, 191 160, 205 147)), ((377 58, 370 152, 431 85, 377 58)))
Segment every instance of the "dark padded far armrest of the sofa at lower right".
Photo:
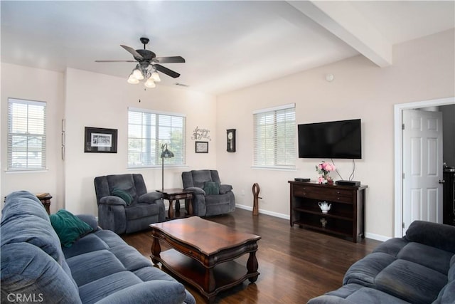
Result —
POLYGON ((455 226, 413 221, 406 231, 406 239, 455 253, 455 226))

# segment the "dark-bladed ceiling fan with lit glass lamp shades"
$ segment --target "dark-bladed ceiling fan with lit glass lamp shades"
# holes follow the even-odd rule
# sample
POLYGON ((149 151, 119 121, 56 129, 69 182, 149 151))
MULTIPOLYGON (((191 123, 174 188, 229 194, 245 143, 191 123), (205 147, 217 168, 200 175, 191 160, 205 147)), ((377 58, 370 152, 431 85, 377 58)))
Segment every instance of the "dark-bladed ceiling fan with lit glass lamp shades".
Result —
POLYGON ((134 50, 129 46, 122 46, 125 50, 132 54, 134 61, 95 61, 95 62, 137 62, 136 68, 129 75, 128 83, 136 84, 139 80, 146 79, 144 85, 147 88, 154 88, 155 82, 161 81, 157 72, 164 73, 172 78, 178 78, 179 73, 170 70, 159 63, 184 63, 185 59, 181 56, 171 57, 156 57, 152 51, 146 50, 145 46, 149 43, 149 38, 141 37, 141 43, 144 44, 144 49, 134 50))

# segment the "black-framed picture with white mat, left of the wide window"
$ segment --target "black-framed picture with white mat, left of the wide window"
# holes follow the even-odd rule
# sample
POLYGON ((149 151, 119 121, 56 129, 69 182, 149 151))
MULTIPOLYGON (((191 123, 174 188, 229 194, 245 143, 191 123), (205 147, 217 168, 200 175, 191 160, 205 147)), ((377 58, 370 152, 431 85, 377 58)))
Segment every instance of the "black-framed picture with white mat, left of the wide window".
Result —
POLYGON ((85 127, 84 152, 117 153, 117 129, 85 127))

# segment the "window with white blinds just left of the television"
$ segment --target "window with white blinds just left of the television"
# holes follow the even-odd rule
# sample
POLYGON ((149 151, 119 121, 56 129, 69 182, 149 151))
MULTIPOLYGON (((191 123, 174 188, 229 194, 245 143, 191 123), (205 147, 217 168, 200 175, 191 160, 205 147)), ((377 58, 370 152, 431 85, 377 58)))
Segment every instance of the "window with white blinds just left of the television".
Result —
POLYGON ((254 167, 295 169, 295 105, 253 112, 254 167))

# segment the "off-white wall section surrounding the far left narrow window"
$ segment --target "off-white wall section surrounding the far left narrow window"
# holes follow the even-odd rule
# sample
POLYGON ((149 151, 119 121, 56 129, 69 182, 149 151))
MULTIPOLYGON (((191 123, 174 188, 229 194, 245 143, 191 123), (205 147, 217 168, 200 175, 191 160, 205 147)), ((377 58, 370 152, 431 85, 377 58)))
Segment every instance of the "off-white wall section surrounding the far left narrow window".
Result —
MULTIPOLYGON (((1 63, 1 185, 0 197, 18 191, 49 192, 50 211, 63 208, 63 161, 60 157, 60 122, 64 103, 63 73, 1 63), (47 167, 42 172, 6 172, 8 98, 39 100, 47 108, 47 167)), ((3 201, 3 199, 1 199, 3 201)))

